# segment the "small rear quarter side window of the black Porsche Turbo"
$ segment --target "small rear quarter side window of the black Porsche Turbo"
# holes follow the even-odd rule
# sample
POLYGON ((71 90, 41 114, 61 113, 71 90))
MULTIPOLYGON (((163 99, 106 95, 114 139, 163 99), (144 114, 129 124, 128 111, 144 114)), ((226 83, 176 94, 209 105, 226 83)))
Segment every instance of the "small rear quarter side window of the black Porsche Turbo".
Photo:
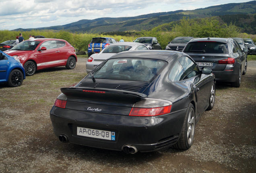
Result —
POLYGON ((187 79, 186 73, 183 70, 179 61, 175 62, 175 64, 171 68, 168 78, 173 82, 187 79))

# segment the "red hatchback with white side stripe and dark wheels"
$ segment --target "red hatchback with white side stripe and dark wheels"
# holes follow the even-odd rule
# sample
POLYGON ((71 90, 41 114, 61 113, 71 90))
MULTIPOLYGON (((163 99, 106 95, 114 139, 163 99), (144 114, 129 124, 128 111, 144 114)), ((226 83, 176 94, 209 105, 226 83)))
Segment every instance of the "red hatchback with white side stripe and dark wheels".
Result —
POLYGON ((73 69, 77 61, 74 47, 66 40, 55 38, 25 40, 5 53, 20 60, 26 76, 35 74, 36 70, 56 66, 73 69))

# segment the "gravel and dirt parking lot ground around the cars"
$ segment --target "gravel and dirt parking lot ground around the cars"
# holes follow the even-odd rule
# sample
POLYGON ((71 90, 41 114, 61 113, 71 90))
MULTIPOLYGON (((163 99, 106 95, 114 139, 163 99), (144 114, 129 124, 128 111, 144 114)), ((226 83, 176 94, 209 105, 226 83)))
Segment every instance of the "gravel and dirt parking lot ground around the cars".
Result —
POLYGON ((240 88, 217 83, 215 107, 196 125, 187 151, 172 148, 127 155, 61 143, 49 112, 61 87, 79 82, 87 58, 75 69, 38 71, 21 87, 0 85, 0 172, 255 173, 256 61, 248 62, 240 88))

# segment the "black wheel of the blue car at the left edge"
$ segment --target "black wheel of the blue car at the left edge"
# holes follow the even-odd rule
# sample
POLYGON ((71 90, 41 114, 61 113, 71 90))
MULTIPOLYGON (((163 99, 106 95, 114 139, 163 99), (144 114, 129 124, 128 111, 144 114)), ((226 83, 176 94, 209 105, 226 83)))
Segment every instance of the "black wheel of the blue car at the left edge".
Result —
POLYGON ((23 82, 23 78, 24 76, 21 70, 18 70, 18 69, 12 70, 8 78, 8 86, 19 87, 23 82))

